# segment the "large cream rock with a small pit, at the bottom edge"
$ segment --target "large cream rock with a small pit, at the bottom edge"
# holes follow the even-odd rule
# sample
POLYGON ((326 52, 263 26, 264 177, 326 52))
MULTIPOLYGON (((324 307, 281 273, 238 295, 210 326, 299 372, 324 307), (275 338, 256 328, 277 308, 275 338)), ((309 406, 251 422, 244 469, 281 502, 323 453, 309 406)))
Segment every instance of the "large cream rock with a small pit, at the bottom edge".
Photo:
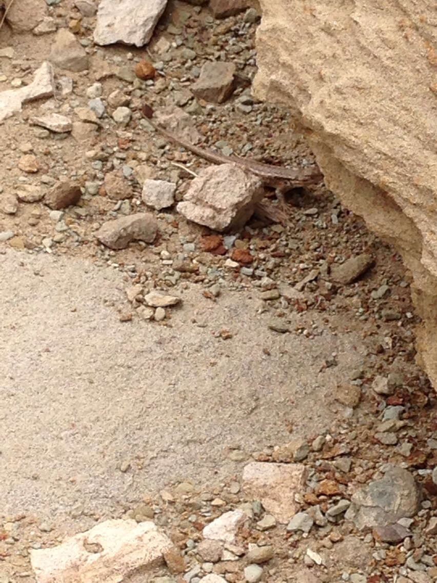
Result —
POLYGON ((107 520, 50 549, 30 550, 37 583, 125 581, 163 562, 173 544, 153 522, 107 520), (89 550, 87 550, 87 547, 89 550))

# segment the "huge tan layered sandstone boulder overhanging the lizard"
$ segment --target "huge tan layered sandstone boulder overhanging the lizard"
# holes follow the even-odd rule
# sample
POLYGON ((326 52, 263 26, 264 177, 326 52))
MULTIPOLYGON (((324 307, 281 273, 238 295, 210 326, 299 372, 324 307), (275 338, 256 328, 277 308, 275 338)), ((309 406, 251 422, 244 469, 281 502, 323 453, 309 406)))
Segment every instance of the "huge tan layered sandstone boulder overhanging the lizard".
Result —
POLYGON ((435 0, 261 0, 255 94, 286 103, 328 188, 400 251, 437 387, 435 0))

